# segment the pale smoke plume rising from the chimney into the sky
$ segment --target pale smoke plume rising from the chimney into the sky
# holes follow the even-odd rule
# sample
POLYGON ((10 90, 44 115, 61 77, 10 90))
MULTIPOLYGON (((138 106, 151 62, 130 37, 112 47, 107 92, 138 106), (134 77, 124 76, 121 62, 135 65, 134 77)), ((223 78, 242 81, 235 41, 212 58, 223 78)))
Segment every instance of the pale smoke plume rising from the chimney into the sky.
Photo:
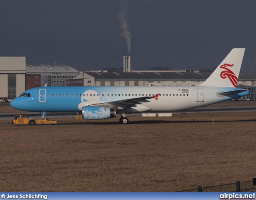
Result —
POLYGON ((120 20, 121 28, 123 30, 122 33, 121 33, 121 36, 127 42, 128 54, 130 54, 131 47, 132 47, 132 39, 131 39, 131 34, 128 30, 128 25, 127 25, 127 21, 126 21, 126 14, 127 14, 127 9, 126 8, 121 8, 120 12, 118 12, 118 19, 120 20))

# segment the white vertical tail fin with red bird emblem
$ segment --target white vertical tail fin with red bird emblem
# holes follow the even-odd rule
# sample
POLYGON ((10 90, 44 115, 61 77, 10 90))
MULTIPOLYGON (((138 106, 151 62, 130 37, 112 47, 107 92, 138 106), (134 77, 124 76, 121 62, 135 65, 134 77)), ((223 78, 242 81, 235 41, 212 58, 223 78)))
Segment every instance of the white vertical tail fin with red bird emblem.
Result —
POLYGON ((235 88, 245 48, 234 48, 200 86, 223 86, 235 88))

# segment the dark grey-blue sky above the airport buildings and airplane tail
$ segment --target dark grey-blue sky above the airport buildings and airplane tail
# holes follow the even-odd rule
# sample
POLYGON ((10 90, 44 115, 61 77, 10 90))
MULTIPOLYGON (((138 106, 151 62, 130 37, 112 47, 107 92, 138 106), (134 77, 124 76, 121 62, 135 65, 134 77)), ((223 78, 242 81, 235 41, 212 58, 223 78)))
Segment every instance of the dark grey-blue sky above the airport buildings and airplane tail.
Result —
POLYGON ((242 71, 256 61, 255 0, 0 0, 0 56, 122 68, 125 9, 132 70, 214 68, 232 48, 246 48, 242 71))

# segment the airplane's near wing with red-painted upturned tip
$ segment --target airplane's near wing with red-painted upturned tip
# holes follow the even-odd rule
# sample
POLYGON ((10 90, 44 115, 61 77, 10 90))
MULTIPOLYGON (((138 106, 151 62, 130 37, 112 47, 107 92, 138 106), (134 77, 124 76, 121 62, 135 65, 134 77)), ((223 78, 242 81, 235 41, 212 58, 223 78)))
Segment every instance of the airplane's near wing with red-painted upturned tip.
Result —
POLYGON ((132 99, 123 99, 123 100, 118 100, 118 101, 110 101, 110 102, 104 102, 104 103, 97 103, 97 104, 90 104, 90 106, 116 106, 118 109, 124 109, 128 106, 135 106, 137 104, 142 104, 144 102, 149 102, 148 99, 155 98, 158 100, 158 95, 156 94, 154 96, 143 96, 143 97, 137 97, 137 98, 132 98, 132 99))

